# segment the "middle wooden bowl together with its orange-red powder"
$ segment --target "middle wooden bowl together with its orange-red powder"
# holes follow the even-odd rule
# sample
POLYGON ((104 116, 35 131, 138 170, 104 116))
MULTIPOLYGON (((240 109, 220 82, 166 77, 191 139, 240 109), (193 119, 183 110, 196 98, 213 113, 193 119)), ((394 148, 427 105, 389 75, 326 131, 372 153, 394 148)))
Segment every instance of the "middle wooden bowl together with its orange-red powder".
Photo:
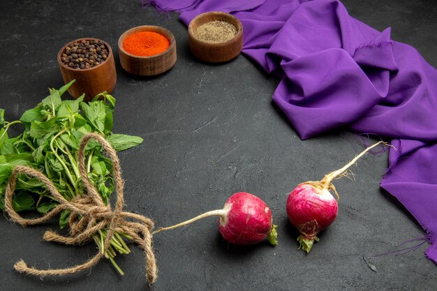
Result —
POLYGON ((121 66, 134 75, 158 75, 176 63, 175 36, 163 27, 133 27, 121 34, 118 48, 121 66))

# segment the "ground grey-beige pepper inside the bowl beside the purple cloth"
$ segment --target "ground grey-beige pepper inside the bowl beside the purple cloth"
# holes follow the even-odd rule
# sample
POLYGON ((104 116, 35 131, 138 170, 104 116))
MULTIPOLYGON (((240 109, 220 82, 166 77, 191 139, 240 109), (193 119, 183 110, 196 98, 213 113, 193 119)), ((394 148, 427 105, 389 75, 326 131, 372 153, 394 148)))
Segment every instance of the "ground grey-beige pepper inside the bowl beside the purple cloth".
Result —
POLYGON ((237 28, 229 22, 214 20, 198 27, 194 36, 206 43, 224 43, 237 35, 237 28))

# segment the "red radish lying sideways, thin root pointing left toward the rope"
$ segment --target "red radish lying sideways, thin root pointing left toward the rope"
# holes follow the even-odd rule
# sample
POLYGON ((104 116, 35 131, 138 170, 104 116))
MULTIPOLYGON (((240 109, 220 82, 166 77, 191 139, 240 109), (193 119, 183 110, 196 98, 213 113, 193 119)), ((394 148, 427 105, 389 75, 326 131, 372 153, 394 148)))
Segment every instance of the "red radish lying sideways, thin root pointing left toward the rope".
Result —
POLYGON ((218 230, 223 239, 231 244, 239 246, 257 244, 266 238, 270 244, 278 244, 276 225, 272 223, 272 211, 260 198, 245 192, 230 196, 223 209, 208 211, 177 225, 158 228, 152 234, 187 225, 209 216, 220 216, 218 230))

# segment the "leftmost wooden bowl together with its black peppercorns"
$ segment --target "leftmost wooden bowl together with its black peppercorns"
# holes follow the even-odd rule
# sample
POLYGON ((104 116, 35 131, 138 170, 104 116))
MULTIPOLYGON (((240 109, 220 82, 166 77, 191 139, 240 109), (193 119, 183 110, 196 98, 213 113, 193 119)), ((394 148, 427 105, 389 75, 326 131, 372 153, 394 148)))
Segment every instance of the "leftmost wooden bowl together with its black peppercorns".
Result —
POLYGON ((73 98, 85 94, 89 101, 97 94, 111 93, 117 82, 114 56, 110 45, 97 38, 80 38, 64 45, 58 53, 64 82, 75 80, 68 89, 73 98))

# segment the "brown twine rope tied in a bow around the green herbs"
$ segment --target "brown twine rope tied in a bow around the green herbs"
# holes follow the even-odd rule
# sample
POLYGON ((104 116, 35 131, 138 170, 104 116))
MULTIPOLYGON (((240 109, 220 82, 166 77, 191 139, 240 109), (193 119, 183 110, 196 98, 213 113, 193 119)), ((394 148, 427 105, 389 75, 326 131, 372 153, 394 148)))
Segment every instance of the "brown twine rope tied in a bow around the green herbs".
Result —
POLYGON ((75 274, 78 271, 84 271, 85 269, 93 267, 99 260, 101 260, 103 253, 105 253, 110 246, 110 241, 114 232, 117 231, 130 235, 133 241, 135 241, 135 243, 145 251, 147 281, 149 284, 154 283, 154 281, 156 281, 157 270, 155 255, 151 246, 150 234, 150 230, 154 227, 154 223, 145 216, 122 211, 124 204, 124 181, 121 179, 120 163, 116 151, 111 147, 109 142, 101 137, 101 135, 88 133, 80 142, 78 160, 80 176, 86 189, 84 195, 77 195, 73 200, 68 201, 57 191, 57 188, 53 185, 52 181, 45 177, 44 174, 31 167, 18 165, 14 168, 10 175, 8 185, 6 186, 5 208, 13 221, 20 223, 20 225, 24 227, 48 221, 54 216, 57 216, 61 211, 68 209, 71 211, 69 218, 69 225, 71 228, 70 236, 64 237, 52 230, 47 230, 44 234, 44 239, 46 241, 57 241, 62 244, 84 244, 91 241, 93 235, 96 234, 98 230, 106 229, 107 235, 103 244, 103 251, 99 251, 93 258, 83 264, 78 264, 65 269, 35 269, 34 267, 27 267, 27 264, 23 260, 15 263, 14 268, 20 273, 35 276, 66 275, 75 274), (116 186, 115 192, 117 193, 117 202, 114 211, 112 211, 109 203, 106 205, 103 202, 101 195, 87 177, 87 170, 85 169, 84 163, 84 149, 91 139, 101 143, 104 151, 112 160, 112 169, 116 186), (35 177, 42 181, 45 186, 47 186, 48 191, 52 194, 53 199, 59 202, 59 205, 40 218, 27 219, 22 218, 22 216, 17 214, 13 209, 12 202, 17 175, 20 173, 27 174, 30 177, 35 177), (127 219, 133 221, 128 221, 127 219))

